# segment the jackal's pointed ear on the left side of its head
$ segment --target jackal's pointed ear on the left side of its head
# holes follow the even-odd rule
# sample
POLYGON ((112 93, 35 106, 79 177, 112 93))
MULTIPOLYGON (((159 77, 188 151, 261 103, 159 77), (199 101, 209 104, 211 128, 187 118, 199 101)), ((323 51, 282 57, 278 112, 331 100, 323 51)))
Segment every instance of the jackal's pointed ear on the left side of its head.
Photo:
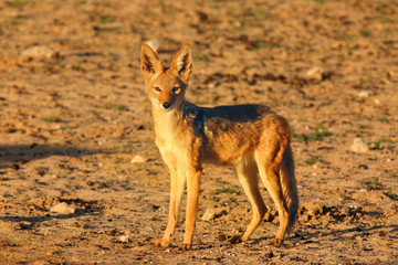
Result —
POLYGON ((163 64, 154 50, 147 44, 142 47, 142 72, 145 82, 148 82, 154 75, 161 74, 164 72, 163 64))

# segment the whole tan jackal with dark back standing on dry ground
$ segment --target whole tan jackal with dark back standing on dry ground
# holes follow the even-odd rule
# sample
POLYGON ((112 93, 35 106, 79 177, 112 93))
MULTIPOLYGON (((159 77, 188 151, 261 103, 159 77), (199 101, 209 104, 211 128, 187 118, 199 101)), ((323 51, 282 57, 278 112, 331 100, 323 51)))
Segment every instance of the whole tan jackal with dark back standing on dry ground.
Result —
POLYGON ((203 108, 185 100, 191 71, 189 44, 179 50, 166 71, 148 45, 142 47, 142 72, 153 104, 156 145, 171 178, 168 224, 164 237, 154 243, 169 246, 187 186, 186 232, 179 250, 191 247, 201 165, 211 162, 235 167, 253 208, 245 232, 231 242, 249 240, 266 212, 259 190, 259 174, 280 215, 280 229, 271 241, 280 246, 294 225, 298 208, 287 121, 262 105, 203 108))

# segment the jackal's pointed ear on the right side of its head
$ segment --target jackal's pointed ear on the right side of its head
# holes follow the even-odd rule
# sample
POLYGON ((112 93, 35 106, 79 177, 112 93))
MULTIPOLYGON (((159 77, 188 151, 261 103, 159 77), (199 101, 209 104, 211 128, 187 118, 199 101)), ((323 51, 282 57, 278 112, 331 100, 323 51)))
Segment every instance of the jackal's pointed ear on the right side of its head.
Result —
POLYGON ((184 83, 188 83, 192 72, 192 49, 189 44, 185 44, 178 51, 171 62, 170 71, 179 75, 184 83))

